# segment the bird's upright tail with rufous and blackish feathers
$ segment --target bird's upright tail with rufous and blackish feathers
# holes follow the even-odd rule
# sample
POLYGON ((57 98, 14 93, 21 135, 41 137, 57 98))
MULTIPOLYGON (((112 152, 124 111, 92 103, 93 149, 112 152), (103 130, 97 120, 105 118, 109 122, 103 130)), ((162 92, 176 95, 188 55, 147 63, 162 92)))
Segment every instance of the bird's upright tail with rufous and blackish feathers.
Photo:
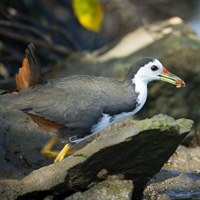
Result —
POLYGON ((15 76, 17 88, 0 95, 0 104, 10 108, 12 108, 12 102, 15 101, 18 93, 43 83, 38 56, 32 43, 28 45, 25 53, 26 57, 23 59, 22 67, 19 68, 19 73, 15 76))

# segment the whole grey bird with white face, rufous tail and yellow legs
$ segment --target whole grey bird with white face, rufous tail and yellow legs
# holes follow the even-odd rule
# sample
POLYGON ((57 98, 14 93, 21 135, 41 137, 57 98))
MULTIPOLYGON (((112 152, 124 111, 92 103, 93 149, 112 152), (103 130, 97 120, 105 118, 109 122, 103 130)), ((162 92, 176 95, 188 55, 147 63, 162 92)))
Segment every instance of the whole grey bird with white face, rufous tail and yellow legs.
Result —
POLYGON ((17 88, 0 95, 0 104, 21 110, 39 127, 54 134, 41 150, 42 155, 55 158, 54 163, 73 154, 73 145, 137 113, 146 102, 149 82, 161 80, 186 86, 155 58, 135 61, 124 80, 75 75, 44 81, 32 43, 25 53, 16 74, 17 88), (54 152, 51 149, 59 138, 65 139, 66 144, 54 152))

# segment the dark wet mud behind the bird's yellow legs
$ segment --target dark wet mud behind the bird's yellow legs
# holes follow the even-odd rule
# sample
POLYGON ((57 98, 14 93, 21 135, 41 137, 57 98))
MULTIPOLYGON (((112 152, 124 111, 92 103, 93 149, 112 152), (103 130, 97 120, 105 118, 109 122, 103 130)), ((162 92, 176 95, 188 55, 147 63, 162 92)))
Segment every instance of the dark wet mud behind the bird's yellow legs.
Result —
POLYGON ((40 154, 50 138, 49 133, 42 131, 23 112, 1 105, 0 133, 1 178, 22 179, 33 170, 52 163, 40 154))

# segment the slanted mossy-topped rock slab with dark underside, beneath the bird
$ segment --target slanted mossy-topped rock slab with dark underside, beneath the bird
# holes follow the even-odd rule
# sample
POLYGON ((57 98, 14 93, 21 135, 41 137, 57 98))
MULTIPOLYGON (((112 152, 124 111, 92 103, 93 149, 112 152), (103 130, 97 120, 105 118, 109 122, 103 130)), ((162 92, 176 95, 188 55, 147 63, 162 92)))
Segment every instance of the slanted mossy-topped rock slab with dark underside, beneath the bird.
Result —
MULTIPOLYGON (((27 126, 29 127, 28 130, 25 126, 25 131, 23 131, 24 119, 21 122, 18 119, 16 123, 13 120, 14 115, 22 114, 19 111, 10 110, 9 112, 10 115, 3 114, 2 111, 0 120, 2 120, 2 124, 5 121, 6 126, 2 128, 3 132, 1 133, 9 133, 4 135, 6 141, 15 140, 15 142, 13 141, 15 145, 12 145, 12 148, 24 151, 23 156, 32 165, 26 166, 24 160, 15 155, 9 162, 13 162, 15 166, 17 162, 18 170, 21 173, 36 167, 33 160, 40 163, 39 165, 47 163, 42 161, 38 149, 45 134, 41 134, 34 126, 27 126), (11 121, 9 121, 9 117, 11 121), (13 124, 15 128, 18 126, 18 129, 11 128, 13 124), (33 130, 35 131, 33 132, 33 130), (14 137, 15 133, 17 136, 14 137), (12 139, 13 137, 14 139, 12 139), (20 139, 17 139, 17 137, 20 137, 20 139), (25 145, 25 147, 20 146, 20 144, 25 145), (26 152, 28 153, 26 154, 26 152)), ((4 113, 6 113, 6 109, 4 113)), ((29 118, 27 121, 29 121, 29 118)), ((132 198, 139 199, 149 179, 159 172, 179 143, 189 133, 192 124, 191 120, 180 119, 175 121, 166 115, 157 115, 138 123, 133 123, 131 119, 123 120, 102 131, 100 136, 86 147, 59 163, 34 170, 22 180, 1 180, 0 199, 40 200, 48 196, 64 199, 77 191, 86 191, 95 183, 102 181, 97 177, 102 169, 106 169, 110 175, 122 174, 125 180, 133 180, 134 192, 132 198)), ((10 147, 6 147, 6 143, 2 145, 3 152, 7 156, 10 156, 9 154, 12 152, 8 151, 10 147)), ((110 184, 109 182, 104 183, 110 184)), ((98 186, 94 187, 98 188, 98 186)), ((95 188, 93 190, 91 188, 91 191, 95 190, 95 188)), ((129 190, 130 188, 127 189, 128 193, 129 190)), ((87 195, 87 192, 85 195, 87 195)))

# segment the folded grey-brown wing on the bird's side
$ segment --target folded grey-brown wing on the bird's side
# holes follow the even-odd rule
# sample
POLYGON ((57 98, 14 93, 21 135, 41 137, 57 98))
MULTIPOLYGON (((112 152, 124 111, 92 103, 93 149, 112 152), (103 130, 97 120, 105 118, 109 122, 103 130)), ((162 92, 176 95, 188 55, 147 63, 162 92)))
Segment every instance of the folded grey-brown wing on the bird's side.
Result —
POLYGON ((92 83, 87 83, 87 87, 82 81, 67 83, 37 85, 19 94, 9 94, 3 104, 68 127, 95 124, 102 114, 106 96, 92 83))

